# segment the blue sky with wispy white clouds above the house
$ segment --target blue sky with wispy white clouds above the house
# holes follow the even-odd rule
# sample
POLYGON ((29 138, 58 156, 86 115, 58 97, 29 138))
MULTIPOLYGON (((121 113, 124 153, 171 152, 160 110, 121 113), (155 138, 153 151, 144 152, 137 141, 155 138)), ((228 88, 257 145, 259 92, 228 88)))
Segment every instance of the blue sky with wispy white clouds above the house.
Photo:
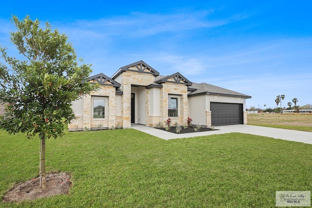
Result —
MULTIPOLYGON (((143 60, 161 75, 180 72, 251 95, 247 107, 276 107, 276 95, 312 104, 310 1, 4 1, 0 44, 10 56, 11 15, 49 21, 93 75, 143 60)), ((1 60, 2 61, 2 60, 1 60)))

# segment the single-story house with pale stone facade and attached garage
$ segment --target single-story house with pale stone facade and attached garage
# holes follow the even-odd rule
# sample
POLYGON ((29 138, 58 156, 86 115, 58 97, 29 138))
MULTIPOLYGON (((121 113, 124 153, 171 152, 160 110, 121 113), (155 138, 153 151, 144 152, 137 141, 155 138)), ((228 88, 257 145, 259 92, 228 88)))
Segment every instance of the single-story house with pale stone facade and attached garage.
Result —
POLYGON ((73 102, 76 119, 69 131, 130 128, 131 123, 149 127, 172 123, 220 126, 246 124, 245 99, 251 98, 207 83, 194 83, 180 73, 162 76, 137 61, 121 67, 112 77, 89 77, 100 89, 73 102))

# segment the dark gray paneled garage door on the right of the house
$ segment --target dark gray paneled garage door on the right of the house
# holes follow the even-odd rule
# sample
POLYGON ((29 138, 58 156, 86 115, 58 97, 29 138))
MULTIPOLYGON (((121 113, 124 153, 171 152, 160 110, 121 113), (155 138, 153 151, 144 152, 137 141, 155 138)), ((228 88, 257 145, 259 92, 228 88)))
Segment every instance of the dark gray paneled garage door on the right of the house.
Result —
POLYGON ((213 126, 244 124, 243 104, 211 102, 210 110, 213 126))

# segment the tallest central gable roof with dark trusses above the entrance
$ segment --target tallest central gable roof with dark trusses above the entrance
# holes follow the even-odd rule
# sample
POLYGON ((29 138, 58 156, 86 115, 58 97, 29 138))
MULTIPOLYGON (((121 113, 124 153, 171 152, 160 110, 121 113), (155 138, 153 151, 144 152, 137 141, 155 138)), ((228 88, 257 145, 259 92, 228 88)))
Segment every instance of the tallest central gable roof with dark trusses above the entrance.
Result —
POLYGON ((126 71, 152 74, 154 76, 159 75, 159 72, 157 72, 155 69, 153 69, 144 61, 140 60, 135 63, 129 64, 127 66, 120 67, 120 69, 112 76, 112 79, 115 79, 121 73, 126 72, 126 71))

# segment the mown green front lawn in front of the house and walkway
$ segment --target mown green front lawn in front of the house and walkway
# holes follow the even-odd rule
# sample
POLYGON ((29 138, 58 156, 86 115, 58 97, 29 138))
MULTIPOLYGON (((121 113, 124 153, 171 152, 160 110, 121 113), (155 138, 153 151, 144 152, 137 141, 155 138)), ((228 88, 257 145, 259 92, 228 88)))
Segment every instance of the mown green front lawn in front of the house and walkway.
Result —
MULTIPOLYGON (((312 145, 229 133, 162 140, 137 130, 68 132, 46 169, 70 194, 0 207, 274 207, 276 190, 311 190, 312 145)), ((0 198, 38 176, 39 139, 0 132, 0 198)))

